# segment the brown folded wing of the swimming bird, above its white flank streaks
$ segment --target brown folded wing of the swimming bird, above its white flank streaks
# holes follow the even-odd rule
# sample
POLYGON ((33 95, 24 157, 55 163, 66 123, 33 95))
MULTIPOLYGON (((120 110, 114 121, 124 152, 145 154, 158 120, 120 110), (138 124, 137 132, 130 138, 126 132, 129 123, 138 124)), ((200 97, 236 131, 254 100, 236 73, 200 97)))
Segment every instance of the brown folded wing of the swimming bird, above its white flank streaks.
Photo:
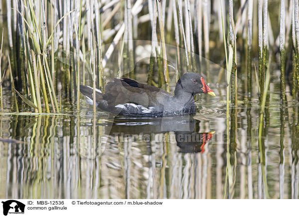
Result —
POLYGON ((119 104, 135 103, 146 108, 162 107, 161 100, 171 97, 168 92, 146 84, 140 84, 133 79, 112 79, 105 86, 105 100, 109 107, 119 104), (158 100, 159 99, 159 100, 158 100))

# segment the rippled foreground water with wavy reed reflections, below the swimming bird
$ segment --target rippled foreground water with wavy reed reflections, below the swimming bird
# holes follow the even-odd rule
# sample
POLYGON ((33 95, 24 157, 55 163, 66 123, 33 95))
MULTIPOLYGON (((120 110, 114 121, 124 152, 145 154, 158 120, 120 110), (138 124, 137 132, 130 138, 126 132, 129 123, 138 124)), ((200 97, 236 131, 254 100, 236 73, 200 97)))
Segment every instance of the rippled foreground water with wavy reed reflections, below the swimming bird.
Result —
POLYGON ((286 139, 281 159, 279 129, 270 126, 262 170, 242 110, 229 164, 223 114, 1 115, 1 197, 298 198, 298 147, 286 139))

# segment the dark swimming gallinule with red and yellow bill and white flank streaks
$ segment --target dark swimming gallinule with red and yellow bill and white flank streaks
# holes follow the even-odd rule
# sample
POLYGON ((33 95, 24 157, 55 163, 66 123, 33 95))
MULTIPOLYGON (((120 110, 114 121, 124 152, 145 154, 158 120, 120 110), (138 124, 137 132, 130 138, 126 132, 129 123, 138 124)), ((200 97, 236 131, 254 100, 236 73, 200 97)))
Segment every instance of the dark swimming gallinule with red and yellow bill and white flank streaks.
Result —
MULTIPOLYGON (((80 85, 80 92, 93 104, 93 88, 80 85)), ((96 90, 96 106, 113 114, 129 116, 178 116, 195 114, 194 96, 199 93, 215 97, 201 75, 186 73, 177 81, 174 96, 168 92, 133 79, 112 79, 105 94, 96 90)))

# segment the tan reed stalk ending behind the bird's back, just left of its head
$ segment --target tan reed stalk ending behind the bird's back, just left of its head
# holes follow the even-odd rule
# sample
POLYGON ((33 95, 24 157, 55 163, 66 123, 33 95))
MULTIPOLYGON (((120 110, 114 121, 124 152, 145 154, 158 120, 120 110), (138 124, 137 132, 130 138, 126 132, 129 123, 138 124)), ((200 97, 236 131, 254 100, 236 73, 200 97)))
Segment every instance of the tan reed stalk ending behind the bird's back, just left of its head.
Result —
POLYGON ((158 20, 159 20, 160 40, 161 40, 161 47, 162 47, 165 89, 167 92, 169 92, 169 75, 168 75, 168 65, 167 65, 167 55, 166 55, 166 44, 165 44, 161 4, 160 4, 159 0, 156 0, 156 4, 157 4, 157 12, 158 12, 158 20))

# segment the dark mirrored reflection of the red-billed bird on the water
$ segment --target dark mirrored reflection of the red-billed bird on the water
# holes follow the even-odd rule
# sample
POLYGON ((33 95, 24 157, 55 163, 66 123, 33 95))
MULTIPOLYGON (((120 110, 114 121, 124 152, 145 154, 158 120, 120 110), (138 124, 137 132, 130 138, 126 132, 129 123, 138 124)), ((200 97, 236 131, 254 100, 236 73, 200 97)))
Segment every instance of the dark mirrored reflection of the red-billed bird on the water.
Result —
MULTIPOLYGON (((204 146, 214 132, 199 132, 200 120, 192 116, 162 118, 115 118, 112 127, 105 127, 105 134, 156 141, 158 133, 174 132, 170 137, 181 153, 203 153, 204 146), (173 139, 174 138, 174 139, 173 139)), ((134 139, 133 138, 133 139, 134 139)))

